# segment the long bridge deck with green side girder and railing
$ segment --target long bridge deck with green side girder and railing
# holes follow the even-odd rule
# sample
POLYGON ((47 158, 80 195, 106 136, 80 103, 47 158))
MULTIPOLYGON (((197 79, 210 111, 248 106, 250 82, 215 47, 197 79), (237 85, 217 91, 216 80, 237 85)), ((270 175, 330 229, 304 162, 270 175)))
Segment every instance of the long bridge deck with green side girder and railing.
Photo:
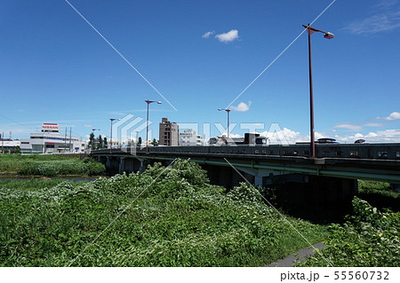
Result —
MULTIPOLYGON (((392 149, 400 151, 399 144, 392 149)), ((337 145, 336 145, 337 146, 337 145)), ((257 146, 252 146, 252 153, 210 153, 205 149, 209 146, 196 147, 195 152, 184 152, 184 146, 161 147, 161 150, 151 150, 146 153, 143 149, 135 154, 123 151, 121 149, 99 150, 92 152, 92 156, 114 157, 114 158, 134 158, 141 160, 172 161, 175 158, 190 159, 201 164, 230 166, 231 163, 237 169, 252 169, 270 171, 271 174, 289 174, 300 173, 325 177, 347 177, 355 179, 372 179, 378 181, 387 181, 391 183, 400 183, 400 158, 362 158, 355 157, 324 157, 310 159, 305 156, 288 155, 268 155, 254 153, 257 146), (203 147, 203 148, 202 148, 203 147)), ((185 146, 186 147, 186 146, 185 146)), ((227 146, 229 147, 229 146, 227 146)), ((247 146, 247 148, 250 146, 247 146)), ((299 148, 299 147, 296 147, 299 148)), ((286 147, 287 149, 287 147, 286 147)), ((234 150, 242 150, 235 148, 234 150)), ((378 147, 375 151, 389 151, 387 146, 378 147)), ((229 151, 229 148, 221 148, 220 151, 229 151)), ((372 150, 370 150, 372 152, 372 150)), ((392 151, 393 152, 393 151, 392 151)), ((391 154, 390 156, 396 156, 391 154)))

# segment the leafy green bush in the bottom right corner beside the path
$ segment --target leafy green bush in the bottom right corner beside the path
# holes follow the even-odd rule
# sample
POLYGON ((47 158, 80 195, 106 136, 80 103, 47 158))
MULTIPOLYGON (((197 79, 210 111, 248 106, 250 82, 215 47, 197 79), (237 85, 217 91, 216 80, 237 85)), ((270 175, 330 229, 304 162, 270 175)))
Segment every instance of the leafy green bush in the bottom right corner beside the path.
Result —
MULTIPOLYGON (((322 254, 334 266, 400 266, 400 213, 380 212, 365 200, 353 200, 353 214, 332 224, 322 254)), ((320 255, 301 266, 329 266, 320 255)))

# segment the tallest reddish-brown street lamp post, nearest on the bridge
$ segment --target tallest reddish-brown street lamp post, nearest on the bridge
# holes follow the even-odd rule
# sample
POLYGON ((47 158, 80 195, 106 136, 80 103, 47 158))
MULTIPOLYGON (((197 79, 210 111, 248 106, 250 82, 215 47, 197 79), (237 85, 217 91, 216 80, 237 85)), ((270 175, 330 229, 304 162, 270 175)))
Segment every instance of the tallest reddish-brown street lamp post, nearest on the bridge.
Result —
POLYGON ((310 115, 310 157, 316 157, 316 141, 314 138, 314 93, 313 93, 313 74, 312 74, 312 66, 311 66, 311 35, 319 32, 324 34, 324 38, 332 39, 334 35, 330 32, 325 32, 320 29, 311 28, 310 24, 308 26, 302 25, 307 29, 308 32, 308 72, 309 72, 309 115, 310 115))

